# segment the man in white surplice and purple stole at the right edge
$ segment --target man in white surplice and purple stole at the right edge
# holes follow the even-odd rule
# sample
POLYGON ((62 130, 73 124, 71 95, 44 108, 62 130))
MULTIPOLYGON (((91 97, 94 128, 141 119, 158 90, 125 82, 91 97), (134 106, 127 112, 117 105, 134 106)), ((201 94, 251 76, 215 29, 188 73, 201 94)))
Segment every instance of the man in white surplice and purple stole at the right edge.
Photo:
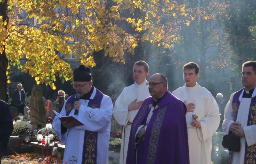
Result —
POLYGON ((230 152, 229 164, 256 162, 256 61, 242 65, 242 85, 231 95, 222 123, 225 134, 240 137, 240 151, 230 152))

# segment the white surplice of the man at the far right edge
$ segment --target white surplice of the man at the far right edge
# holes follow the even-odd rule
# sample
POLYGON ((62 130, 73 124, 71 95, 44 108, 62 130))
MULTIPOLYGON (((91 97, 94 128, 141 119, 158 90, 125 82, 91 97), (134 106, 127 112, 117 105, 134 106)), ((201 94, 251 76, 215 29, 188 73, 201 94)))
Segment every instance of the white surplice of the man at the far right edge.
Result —
MULTIPOLYGON (((242 98, 242 95, 244 93, 244 90, 242 91, 241 95, 239 96, 240 105, 238 108, 238 114, 236 118, 236 122, 241 123, 241 128, 244 129, 245 137, 240 138, 240 151, 239 152, 233 152, 232 153, 232 164, 243 164, 245 160, 245 141, 247 142, 248 146, 256 144, 256 125, 249 125, 247 126, 247 119, 251 104, 251 98, 242 98)), ((229 127, 231 123, 235 122, 233 120, 233 93, 230 96, 230 100, 227 103, 225 107, 225 119, 222 123, 222 129, 225 132, 225 134, 229 134, 229 127)), ((256 96, 256 89, 254 89, 254 92, 252 93, 251 97, 256 96)))

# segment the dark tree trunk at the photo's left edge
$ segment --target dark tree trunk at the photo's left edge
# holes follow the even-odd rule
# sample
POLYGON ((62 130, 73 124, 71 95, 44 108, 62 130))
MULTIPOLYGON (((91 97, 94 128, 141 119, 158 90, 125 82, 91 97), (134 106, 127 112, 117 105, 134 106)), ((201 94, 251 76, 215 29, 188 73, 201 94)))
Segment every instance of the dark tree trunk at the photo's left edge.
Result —
MULTIPOLYGON (((2 16, 3 21, 7 21, 8 23, 8 16, 7 16, 7 0, 4 0, 2 3, 0 3, 0 16, 2 16)), ((7 25, 5 26, 5 29, 7 29, 7 25)), ((7 66, 8 66, 8 59, 6 57, 5 53, 5 45, 2 45, 4 47, 3 52, 0 54, 0 99, 1 100, 7 100, 7 66)))

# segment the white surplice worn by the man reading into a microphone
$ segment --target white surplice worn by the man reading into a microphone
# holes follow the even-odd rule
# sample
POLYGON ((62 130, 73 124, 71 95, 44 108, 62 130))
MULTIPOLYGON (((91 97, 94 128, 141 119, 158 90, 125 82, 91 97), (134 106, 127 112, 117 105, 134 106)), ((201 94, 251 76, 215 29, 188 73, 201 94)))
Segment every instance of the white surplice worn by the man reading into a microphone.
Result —
MULTIPOLYGON (((95 94, 96 88, 94 87, 90 99, 93 99, 95 94)), ((64 103, 62 111, 60 112, 62 116, 66 116, 65 105, 67 102, 68 100, 64 103)), ((104 95, 99 109, 87 107, 89 100, 80 99, 79 102, 82 105, 79 108, 78 115, 74 115, 74 110, 72 109, 69 116, 75 117, 84 125, 69 128, 67 129, 67 132, 61 134, 61 122, 59 121, 59 118, 55 117, 53 121, 53 128, 58 134, 61 142, 65 144, 63 164, 66 161, 69 162, 69 160, 72 160, 73 156, 77 160, 74 164, 82 164, 85 130, 98 132, 97 164, 108 164, 110 121, 113 109, 112 100, 109 96, 104 95)))

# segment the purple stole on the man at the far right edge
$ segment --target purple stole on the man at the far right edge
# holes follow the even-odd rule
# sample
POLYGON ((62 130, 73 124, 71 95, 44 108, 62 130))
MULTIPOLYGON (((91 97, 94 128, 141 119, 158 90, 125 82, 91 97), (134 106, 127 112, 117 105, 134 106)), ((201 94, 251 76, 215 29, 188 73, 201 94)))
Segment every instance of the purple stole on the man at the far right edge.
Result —
MULTIPOLYGON (((234 94, 232 101, 233 108, 233 119, 236 121, 238 109, 240 105, 239 96, 241 95, 243 89, 240 89, 234 94)), ((247 119, 247 126, 256 124, 256 96, 251 98, 251 104, 247 119)), ((232 152, 229 153, 229 164, 231 164, 232 152)), ((256 144, 248 146, 245 142, 245 164, 254 164, 256 162, 256 144)))

